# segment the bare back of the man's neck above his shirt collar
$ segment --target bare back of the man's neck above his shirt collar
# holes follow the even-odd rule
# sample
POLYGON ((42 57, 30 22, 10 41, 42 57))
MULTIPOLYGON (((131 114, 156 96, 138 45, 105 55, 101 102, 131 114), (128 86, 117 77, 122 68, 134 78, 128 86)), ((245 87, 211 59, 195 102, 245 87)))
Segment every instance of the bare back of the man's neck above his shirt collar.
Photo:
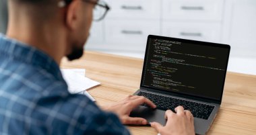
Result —
POLYGON ((17 21, 10 18, 7 36, 38 48, 49 54, 57 64, 60 64, 61 58, 65 56, 67 43, 64 40, 65 32, 59 26, 53 26, 53 24, 36 24, 29 19, 17 21))

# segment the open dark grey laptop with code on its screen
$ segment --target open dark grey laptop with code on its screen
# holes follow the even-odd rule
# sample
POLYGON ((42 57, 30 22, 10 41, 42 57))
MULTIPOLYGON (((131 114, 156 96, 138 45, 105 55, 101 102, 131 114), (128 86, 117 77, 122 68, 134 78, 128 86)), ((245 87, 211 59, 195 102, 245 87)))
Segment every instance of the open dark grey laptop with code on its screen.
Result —
POLYGON ((130 116, 165 125, 165 111, 182 105, 194 116, 195 133, 206 134, 222 103, 229 54, 226 44, 148 36, 134 95, 147 97, 157 109, 139 105, 130 116))

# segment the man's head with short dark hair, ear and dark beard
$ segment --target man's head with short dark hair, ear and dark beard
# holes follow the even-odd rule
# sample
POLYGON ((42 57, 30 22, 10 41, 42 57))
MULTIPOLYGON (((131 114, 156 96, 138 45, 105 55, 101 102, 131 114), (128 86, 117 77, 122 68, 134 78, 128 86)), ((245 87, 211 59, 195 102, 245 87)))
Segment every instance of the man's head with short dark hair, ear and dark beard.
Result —
MULTIPOLYGON (((20 21, 12 22, 14 26, 18 26, 24 21, 26 23, 23 24, 26 25, 23 26, 28 27, 26 30, 38 29, 39 32, 48 34, 49 36, 44 35, 45 37, 42 38, 53 40, 51 43, 63 40, 65 42, 62 46, 65 48, 63 53, 69 60, 73 60, 81 57, 84 52, 84 44, 89 36, 92 23, 94 3, 97 1, 10 0, 9 17, 10 20, 20 21)), ((49 42, 49 44, 51 43, 49 42)), ((50 47, 55 47, 55 44, 51 44, 50 47)), ((61 48, 59 50, 61 51, 61 48)))

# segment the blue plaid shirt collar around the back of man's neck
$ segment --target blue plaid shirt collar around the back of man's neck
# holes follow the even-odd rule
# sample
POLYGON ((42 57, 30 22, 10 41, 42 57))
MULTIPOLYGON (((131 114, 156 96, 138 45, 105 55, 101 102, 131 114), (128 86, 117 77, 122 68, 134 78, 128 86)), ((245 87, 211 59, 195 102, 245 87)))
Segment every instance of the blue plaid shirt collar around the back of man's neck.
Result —
POLYGON ((45 69, 56 79, 63 80, 59 65, 51 56, 28 44, 7 38, 3 34, 0 34, 0 54, 7 56, 7 58, 45 69))

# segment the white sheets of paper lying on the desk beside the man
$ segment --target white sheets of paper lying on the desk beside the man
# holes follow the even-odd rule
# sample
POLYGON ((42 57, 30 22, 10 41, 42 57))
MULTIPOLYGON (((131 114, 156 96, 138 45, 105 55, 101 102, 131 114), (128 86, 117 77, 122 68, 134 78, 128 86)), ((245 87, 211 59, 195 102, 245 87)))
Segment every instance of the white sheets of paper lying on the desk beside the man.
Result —
POLYGON ((100 85, 100 83, 85 77, 85 69, 61 69, 61 73, 67 82, 70 93, 84 94, 92 99, 92 101, 95 101, 95 99, 86 91, 86 89, 100 85))

